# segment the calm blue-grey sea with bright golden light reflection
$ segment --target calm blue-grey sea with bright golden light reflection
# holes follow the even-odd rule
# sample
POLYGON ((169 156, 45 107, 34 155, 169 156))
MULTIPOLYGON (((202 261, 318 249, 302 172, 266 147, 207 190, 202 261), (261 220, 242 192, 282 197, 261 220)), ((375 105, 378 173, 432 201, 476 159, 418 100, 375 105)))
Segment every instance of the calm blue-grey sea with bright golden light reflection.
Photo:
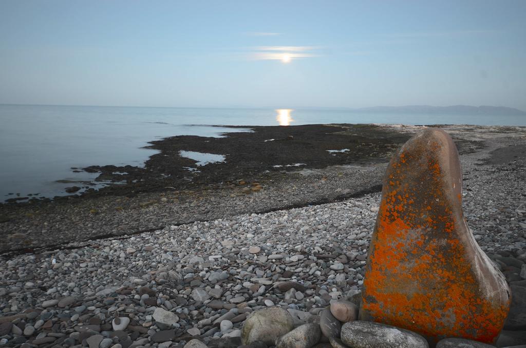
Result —
POLYGON ((232 131, 207 125, 323 123, 526 126, 526 117, 393 114, 335 109, 0 105, 0 201, 15 198, 17 194, 20 197, 29 193, 39 193, 36 197, 66 195, 64 188, 74 184, 57 180, 92 181, 97 177, 96 174, 74 173, 72 167, 143 166, 145 160, 156 152, 142 148, 151 140, 177 135, 217 137, 221 132, 232 131))

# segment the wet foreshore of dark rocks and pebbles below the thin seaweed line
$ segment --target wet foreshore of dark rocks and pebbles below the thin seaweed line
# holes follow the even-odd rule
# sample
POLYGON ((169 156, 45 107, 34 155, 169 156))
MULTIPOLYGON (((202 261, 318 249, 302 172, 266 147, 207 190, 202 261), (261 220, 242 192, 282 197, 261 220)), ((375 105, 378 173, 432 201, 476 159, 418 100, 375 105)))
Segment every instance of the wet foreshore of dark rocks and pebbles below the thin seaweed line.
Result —
MULTIPOLYGON (((100 171, 102 180, 110 180, 112 173, 127 172, 126 185, 113 185, 80 197, 73 193, 54 201, 0 204, 0 237, 4 240, 0 252, 27 252, 72 241, 379 192, 393 151, 419 129, 311 125, 259 127, 255 132, 229 133, 225 138, 167 138, 154 143, 161 152, 146 163, 147 170, 91 168, 100 171), (269 139, 274 140, 265 141, 269 139), (180 156, 182 150, 222 153, 226 161, 197 166, 196 161, 180 156), (298 166, 287 167, 295 164, 298 166), (188 166, 199 171, 184 169, 188 166)), ((505 149, 519 141, 525 131, 524 127, 446 129, 452 132, 460 153, 465 154, 505 149)), ((123 180, 122 175, 114 176, 115 181, 123 180)))

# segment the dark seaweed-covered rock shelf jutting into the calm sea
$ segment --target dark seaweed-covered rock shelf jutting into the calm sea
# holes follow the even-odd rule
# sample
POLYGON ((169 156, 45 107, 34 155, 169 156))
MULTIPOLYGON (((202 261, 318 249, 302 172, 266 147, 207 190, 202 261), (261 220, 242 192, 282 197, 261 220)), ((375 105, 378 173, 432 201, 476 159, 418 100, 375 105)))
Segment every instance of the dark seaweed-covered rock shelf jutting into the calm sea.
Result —
MULTIPOLYGON (((144 167, 106 165, 72 168, 75 172, 98 173, 95 183, 112 182, 113 185, 75 194, 89 182, 72 181, 72 187, 66 189, 72 195, 57 196, 53 200, 108 195, 134 197, 141 192, 159 192, 166 188, 192 189, 258 177, 266 172, 294 171, 298 169, 294 166, 296 163, 301 163, 302 168, 385 163, 393 150, 410 137, 407 130, 380 125, 228 127, 250 128, 254 132, 229 132, 222 138, 176 136, 151 141, 146 148, 158 150, 159 153, 150 156, 144 167), (342 149, 348 151, 327 151, 342 149), (195 160, 181 156, 180 151, 223 155, 225 161, 196 166, 195 160)), ((482 146, 477 141, 458 141, 463 152, 482 146)), ((21 201, 27 198, 14 197, 8 199, 6 204, 23 203, 21 201)), ((52 200, 32 198, 29 203, 49 201, 52 200)))

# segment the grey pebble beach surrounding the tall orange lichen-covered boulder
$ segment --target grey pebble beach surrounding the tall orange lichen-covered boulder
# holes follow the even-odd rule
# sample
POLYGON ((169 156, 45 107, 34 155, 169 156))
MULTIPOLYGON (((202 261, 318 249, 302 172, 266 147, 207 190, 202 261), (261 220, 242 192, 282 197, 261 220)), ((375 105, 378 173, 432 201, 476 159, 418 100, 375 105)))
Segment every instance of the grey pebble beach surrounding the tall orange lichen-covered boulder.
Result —
MULTIPOLYGON (((512 291, 497 346, 526 344, 526 130, 482 128, 446 130, 477 144, 460 146, 463 208, 512 291)), ((260 309, 279 307, 301 330, 332 320, 326 307, 335 301, 358 304, 384 172, 381 163, 278 172, 208 190, 145 193, 151 203, 133 197, 122 210, 112 204, 126 201, 79 200, 82 209, 65 205, 33 222, 2 223, 4 251, 24 248, 24 240, 48 246, 0 260, 0 343, 237 347, 248 315, 260 309), (118 213, 126 215, 112 220, 118 213), (151 231, 127 236, 138 232, 130 220, 151 231), (89 240, 105 222, 115 236, 89 240), (44 232, 35 238, 17 226, 44 232)), ((324 336, 313 345, 339 346, 324 336)))

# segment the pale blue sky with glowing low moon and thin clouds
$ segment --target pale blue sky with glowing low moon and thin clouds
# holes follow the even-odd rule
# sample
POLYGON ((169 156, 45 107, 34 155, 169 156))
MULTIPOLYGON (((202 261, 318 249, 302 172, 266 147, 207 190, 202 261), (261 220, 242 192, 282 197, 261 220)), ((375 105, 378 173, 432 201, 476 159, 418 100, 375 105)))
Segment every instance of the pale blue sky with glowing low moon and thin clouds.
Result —
POLYGON ((526 110, 526 1, 0 0, 0 104, 526 110))

